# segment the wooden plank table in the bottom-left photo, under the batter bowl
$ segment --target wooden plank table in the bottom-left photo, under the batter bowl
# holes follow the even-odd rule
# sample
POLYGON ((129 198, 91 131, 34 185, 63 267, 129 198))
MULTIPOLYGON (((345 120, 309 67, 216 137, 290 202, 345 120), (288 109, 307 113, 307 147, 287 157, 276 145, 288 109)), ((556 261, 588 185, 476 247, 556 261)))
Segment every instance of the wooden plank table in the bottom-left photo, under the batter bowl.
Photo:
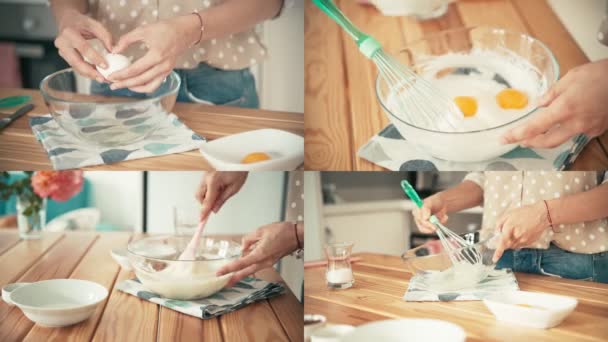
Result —
MULTIPOLYGON (((302 341, 302 305, 283 295, 248 305, 219 318, 202 320, 141 300, 114 286, 134 277, 110 257, 126 246, 130 233, 54 233, 19 240, 0 231, 0 285, 54 278, 95 281, 112 289, 87 321, 65 328, 34 325, 17 307, 0 302, 0 341, 302 341)), ((256 273, 282 281, 273 269, 256 273)))

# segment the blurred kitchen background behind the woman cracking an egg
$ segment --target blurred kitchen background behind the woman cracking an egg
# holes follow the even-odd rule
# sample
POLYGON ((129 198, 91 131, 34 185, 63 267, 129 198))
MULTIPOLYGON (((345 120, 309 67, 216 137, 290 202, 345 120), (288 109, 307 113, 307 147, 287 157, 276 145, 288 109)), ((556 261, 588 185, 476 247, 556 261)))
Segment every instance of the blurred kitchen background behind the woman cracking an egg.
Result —
MULTIPOLYGON (((46 75, 68 67, 53 44, 57 28, 47 3, 0 0, 0 87, 37 89, 46 75)), ((253 70, 261 108, 303 113, 304 0, 258 30, 269 52, 253 70)))

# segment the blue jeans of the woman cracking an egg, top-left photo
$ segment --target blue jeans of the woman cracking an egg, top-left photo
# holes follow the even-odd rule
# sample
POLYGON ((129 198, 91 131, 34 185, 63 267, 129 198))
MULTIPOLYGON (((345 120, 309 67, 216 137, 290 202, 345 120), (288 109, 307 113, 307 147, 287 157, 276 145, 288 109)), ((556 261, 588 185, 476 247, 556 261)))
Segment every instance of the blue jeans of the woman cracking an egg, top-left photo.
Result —
MULTIPOLYGON (((215 104, 233 107, 259 108, 255 79, 249 69, 222 70, 206 63, 194 69, 175 69, 182 79, 178 102, 215 104)), ((144 97, 128 89, 110 90, 106 83, 91 83, 94 94, 144 97)))

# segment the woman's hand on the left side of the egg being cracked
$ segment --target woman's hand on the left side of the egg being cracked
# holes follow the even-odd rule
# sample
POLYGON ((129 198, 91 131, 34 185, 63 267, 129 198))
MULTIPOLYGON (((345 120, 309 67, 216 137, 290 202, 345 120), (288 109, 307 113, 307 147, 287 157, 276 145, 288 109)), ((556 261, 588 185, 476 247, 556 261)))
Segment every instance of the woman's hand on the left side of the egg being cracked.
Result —
POLYGON ((87 42, 88 39, 99 39, 105 48, 112 49, 112 35, 98 21, 76 11, 66 11, 57 20, 59 34, 55 46, 59 55, 79 74, 103 82, 104 77, 95 69, 95 65, 108 67, 105 58, 95 51, 87 42))

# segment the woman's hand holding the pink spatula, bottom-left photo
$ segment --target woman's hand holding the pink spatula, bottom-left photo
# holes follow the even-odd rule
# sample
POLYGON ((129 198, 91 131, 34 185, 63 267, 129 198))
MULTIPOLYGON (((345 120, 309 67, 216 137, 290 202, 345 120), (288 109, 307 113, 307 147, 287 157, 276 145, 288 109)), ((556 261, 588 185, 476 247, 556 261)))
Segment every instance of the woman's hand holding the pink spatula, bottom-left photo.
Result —
POLYGON ((247 172, 207 172, 195 195, 202 204, 201 220, 209 216, 211 211, 217 213, 227 199, 241 190, 245 180, 247 180, 247 172))

